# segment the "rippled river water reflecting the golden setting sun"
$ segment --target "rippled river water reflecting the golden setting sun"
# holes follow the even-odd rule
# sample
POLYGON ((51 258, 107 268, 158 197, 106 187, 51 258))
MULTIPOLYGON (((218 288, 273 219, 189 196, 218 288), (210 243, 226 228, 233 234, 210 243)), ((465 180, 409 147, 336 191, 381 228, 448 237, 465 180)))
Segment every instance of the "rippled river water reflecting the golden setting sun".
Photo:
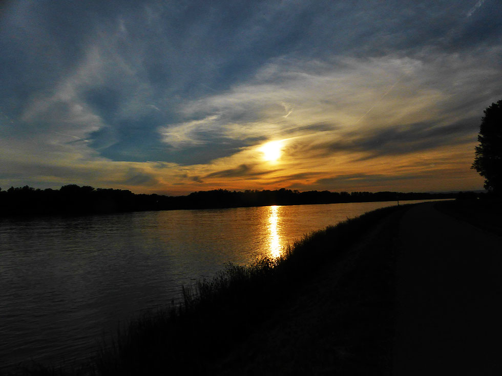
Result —
POLYGON ((119 321, 178 299, 181 284, 389 205, 0 219, 0 369, 86 358, 119 321))

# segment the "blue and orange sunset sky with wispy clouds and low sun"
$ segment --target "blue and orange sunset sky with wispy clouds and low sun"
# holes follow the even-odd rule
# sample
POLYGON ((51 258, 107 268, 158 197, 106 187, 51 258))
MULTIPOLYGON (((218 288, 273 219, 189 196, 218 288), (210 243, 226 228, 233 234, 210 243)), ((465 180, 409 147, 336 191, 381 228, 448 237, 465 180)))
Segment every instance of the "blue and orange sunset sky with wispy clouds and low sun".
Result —
POLYGON ((0 187, 458 191, 502 2, 0 3, 0 187))

